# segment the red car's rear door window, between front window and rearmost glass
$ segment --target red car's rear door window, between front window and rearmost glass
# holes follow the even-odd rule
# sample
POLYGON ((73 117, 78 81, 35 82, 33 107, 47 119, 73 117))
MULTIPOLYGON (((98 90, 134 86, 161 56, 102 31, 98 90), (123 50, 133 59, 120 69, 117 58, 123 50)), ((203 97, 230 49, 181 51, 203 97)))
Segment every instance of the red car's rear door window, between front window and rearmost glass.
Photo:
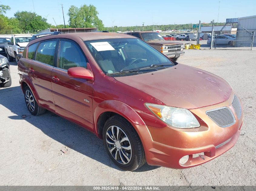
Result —
POLYGON ((36 61, 53 66, 53 55, 57 40, 41 42, 36 53, 36 61))

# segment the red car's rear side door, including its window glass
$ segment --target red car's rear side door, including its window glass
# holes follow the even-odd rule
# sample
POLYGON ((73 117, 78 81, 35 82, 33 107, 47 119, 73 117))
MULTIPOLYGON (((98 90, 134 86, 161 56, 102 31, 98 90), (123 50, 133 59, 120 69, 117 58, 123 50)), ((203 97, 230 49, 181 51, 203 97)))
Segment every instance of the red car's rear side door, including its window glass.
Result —
POLYGON ((39 97, 39 103, 54 111, 52 94, 52 69, 58 40, 45 40, 28 47, 28 72, 39 97), (33 55, 34 54, 34 55, 33 55))

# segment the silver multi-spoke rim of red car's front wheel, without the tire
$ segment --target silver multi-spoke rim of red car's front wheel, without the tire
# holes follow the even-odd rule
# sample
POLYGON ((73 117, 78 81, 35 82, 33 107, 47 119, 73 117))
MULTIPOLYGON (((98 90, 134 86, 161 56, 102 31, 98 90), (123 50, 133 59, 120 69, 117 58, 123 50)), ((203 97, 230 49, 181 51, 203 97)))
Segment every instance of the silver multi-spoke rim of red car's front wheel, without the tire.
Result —
POLYGON ((106 132, 108 150, 120 164, 131 161, 131 143, 125 132, 118 126, 110 126, 106 132))

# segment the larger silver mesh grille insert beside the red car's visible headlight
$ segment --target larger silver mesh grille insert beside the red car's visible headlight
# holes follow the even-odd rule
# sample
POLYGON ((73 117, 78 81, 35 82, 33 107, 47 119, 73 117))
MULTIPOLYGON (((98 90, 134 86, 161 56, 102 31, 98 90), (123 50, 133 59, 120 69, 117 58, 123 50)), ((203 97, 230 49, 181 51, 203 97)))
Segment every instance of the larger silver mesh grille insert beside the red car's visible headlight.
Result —
POLYGON ((235 117, 228 107, 208 110, 205 113, 220 127, 229 127, 235 123, 235 117))

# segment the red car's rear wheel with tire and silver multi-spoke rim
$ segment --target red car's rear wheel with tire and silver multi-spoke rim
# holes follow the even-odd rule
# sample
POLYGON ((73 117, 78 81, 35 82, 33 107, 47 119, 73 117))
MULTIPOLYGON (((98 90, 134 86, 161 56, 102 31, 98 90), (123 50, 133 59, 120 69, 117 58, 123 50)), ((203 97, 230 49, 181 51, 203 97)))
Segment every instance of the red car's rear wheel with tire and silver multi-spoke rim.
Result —
POLYGON ((25 87, 24 98, 25 98, 25 103, 28 108, 28 111, 32 115, 41 115, 41 114, 45 113, 45 109, 38 106, 38 104, 35 100, 35 97, 32 94, 32 91, 30 90, 30 88, 28 86, 25 87), (33 107, 34 107, 34 109, 33 109, 33 107))

